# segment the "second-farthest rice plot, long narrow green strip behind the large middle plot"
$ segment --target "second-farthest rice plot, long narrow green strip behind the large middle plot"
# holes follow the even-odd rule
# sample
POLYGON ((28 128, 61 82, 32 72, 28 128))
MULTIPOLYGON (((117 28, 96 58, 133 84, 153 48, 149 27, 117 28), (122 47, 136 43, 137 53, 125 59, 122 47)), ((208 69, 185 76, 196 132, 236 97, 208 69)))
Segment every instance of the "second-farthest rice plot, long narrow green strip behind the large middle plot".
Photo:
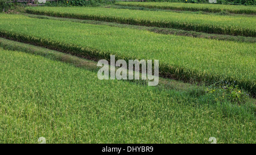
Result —
POLYGON ((254 16, 222 16, 102 7, 28 7, 29 14, 102 20, 224 35, 256 36, 254 16))

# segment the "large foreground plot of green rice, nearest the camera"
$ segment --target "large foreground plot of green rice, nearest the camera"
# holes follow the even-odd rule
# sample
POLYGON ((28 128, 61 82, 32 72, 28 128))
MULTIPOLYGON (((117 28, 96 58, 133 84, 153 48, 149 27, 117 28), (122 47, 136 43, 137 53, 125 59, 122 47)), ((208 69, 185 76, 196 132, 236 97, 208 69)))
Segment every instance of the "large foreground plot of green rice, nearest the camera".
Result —
POLYGON ((254 108, 0 48, 0 143, 255 143, 254 108))

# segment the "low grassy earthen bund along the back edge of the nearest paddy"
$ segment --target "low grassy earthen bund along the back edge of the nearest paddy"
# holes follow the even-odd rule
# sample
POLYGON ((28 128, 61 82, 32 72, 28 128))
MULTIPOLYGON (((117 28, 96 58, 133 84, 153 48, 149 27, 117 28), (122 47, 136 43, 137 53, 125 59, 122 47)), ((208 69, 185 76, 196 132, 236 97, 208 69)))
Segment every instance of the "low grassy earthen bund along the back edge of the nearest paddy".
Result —
MULTIPOLYGON (((84 68, 86 70, 98 72, 100 69, 97 66, 97 61, 88 60, 85 58, 77 57, 69 55, 68 53, 63 53, 43 47, 38 47, 36 45, 20 43, 18 41, 8 40, 0 37, 0 47, 9 51, 20 51, 25 53, 31 53, 33 55, 39 55, 51 60, 57 60, 61 62, 65 62, 68 64, 72 64, 79 68, 84 68)), ((118 69, 118 68, 116 68, 118 69)), ((129 73, 127 73, 129 74, 129 73)), ((144 84, 144 80, 133 80, 131 82, 136 82, 137 84, 144 84)), ((170 78, 159 78, 159 83, 157 86, 159 89, 172 89, 177 91, 186 91, 191 96, 199 97, 199 95, 205 94, 205 87, 199 85, 193 85, 192 83, 184 83, 182 81, 177 81, 175 79, 170 78)))

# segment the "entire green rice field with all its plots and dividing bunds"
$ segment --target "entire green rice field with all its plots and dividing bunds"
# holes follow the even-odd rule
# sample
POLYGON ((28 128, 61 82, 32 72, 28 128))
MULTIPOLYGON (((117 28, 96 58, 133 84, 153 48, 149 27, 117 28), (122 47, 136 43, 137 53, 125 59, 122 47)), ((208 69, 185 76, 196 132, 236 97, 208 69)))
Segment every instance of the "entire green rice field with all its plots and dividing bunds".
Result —
POLYGON ((163 11, 0 13, 0 144, 255 144, 255 7, 117 5, 163 11), (159 60, 158 85, 100 80, 97 61, 110 55, 159 60))

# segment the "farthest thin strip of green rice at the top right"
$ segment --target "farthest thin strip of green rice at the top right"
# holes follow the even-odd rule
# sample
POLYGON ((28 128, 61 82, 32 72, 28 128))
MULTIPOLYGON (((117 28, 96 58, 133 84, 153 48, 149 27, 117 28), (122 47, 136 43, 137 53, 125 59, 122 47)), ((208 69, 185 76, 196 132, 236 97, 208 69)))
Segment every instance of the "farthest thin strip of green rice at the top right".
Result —
POLYGON ((170 2, 116 2, 119 6, 137 6, 150 9, 166 9, 180 11, 205 11, 222 12, 226 11, 233 14, 256 14, 255 6, 237 5, 216 5, 216 4, 197 4, 197 3, 170 3, 170 2))

